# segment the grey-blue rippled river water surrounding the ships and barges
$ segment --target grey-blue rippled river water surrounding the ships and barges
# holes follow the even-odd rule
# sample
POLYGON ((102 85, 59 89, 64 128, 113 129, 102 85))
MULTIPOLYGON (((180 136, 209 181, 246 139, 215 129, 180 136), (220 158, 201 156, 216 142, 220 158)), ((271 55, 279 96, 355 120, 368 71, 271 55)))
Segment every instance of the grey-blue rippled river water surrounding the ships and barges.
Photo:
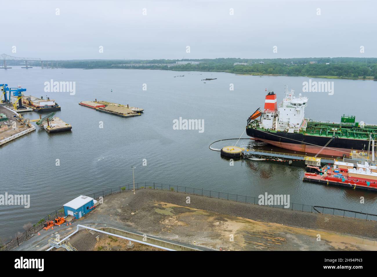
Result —
MULTIPOLYGON (((0 206, 0 238, 8 240, 23 225, 35 223, 69 200, 81 195, 135 182, 158 182, 204 188, 247 196, 289 194, 290 201, 307 205, 376 213, 376 193, 303 183, 303 166, 228 159, 208 148, 213 141, 239 138, 246 120, 264 106, 265 89, 284 96, 284 85, 302 93, 307 77, 258 77, 223 72, 173 72, 123 69, 12 69, 2 70, 1 82, 20 85, 25 95, 49 96, 61 106, 57 116, 72 125, 72 132, 48 134, 37 127, 0 147, 0 194, 30 194, 30 208, 0 206), (174 77, 184 75, 184 77, 174 77), (217 78, 202 81, 205 78, 217 78), (75 94, 44 92, 44 82, 75 82, 75 94), (233 84, 234 90, 230 90, 233 84), (146 89, 146 90, 143 90, 146 89), (142 107, 141 116, 122 118, 79 106, 97 98, 142 107), (204 119, 204 132, 174 130, 173 120, 204 119), (100 128, 103 122, 103 128, 100 128), (56 165, 56 160, 60 165, 56 165), (145 159, 145 160, 144 160, 145 159), (146 165, 143 166, 143 161, 146 165), (365 203, 360 204, 360 197, 365 203)), ((305 116, 340 121, 345 114, 377 124, 377 82, 333 81, 334 95, 308 96, 305 116)), ((25 117, 37 119, 35 112, 25 117)), ((35 123, 33 123, 35 124, 35 123)), ((247 136, 242 136, 246 138, 247 136)), ((218 142, 221 148, 236 141, 218 142)), ((240 140, 244 147, 274 149, 261 142, 240 140)))

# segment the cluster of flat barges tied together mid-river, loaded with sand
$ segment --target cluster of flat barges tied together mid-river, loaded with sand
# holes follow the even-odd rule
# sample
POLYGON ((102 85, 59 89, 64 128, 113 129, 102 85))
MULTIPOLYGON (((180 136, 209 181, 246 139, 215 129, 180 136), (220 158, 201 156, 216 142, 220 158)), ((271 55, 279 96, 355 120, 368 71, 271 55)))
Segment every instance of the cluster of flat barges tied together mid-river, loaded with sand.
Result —
POLYGON ((112 115, 122 117, 139 116, 141 115, 141 112, 144 111, 144 109, 129 107, 129 105, 121 105, 107 101, 97 101, 97 99, 95 101, 82 101, 78 104, 81 106, 89 107, 91 109, 95 109, 98 112, 110 113, 112 115))

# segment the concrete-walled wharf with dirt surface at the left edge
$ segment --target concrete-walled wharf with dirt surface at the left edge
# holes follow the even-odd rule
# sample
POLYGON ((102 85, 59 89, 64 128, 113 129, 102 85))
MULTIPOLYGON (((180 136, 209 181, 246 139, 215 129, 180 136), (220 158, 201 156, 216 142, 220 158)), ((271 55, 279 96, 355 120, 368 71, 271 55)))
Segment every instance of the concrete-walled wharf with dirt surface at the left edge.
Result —
POLYGON ((0 114, 0 145, 35 130, 35 126, 25 122, 22 116, 8 107, 1 106, 0 114))

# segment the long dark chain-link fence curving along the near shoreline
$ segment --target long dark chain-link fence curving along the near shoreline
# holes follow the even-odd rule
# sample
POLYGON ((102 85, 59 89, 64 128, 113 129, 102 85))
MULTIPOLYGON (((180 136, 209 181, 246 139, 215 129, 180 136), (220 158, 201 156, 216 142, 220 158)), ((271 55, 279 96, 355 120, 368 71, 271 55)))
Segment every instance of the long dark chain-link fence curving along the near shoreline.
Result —
MULTIPOLYGON (((213 198, 218 198, 218 199, 223 199, 223 200, 242 202, 242 203, 251 204, 251 205, 260 205, 258 203, 259 197, 245 196, 245 195, 234 194, 234 193, 224 193, 224 192, 213 191, 213 190, 205 190, 204 188, 184 187, 180 185, 170 185, 170 184, 162 184, 162 183, 156 183, 156 182, 135 183, 135 190, 142 190, 142 189, 168 190, 168 191, 174 191, 174 192, 180 192, 180 193, 194 194, 198 196, 213 197, 213 198)), ((127 184, 124 186, 119 186, 119 187, 114 187, 114 188, 106 188, 96 193, 89 193, 87 194, 87 196, 93 197, 93 199, 100 201, 101 197, 103 199, 106 196, 123 193, 125 191, 133 191, 133 184, 127 184)), ((323 206, 317 206, 317 205, 298 204, 294 202, 290 202, 289 208, 285 208, 284 205, 261 205, 261 206, 268 206, 272 208, 284 208, 284 209, 289 209, 292 211, 322 213, 322 214, 329 214, 333 216, 349 217, 353 219, 377 221, 377 214, 363 213, 363 212, 358 212, 358 211, 323 207, 323 206)), ((43 224, 46 221, 54 220, 58 216, 64 216, 63 207, 53 211, 52 213, 49 213, 47 216, 43 217, 37 223, 32 225, 31 228, 29 228, 23 233, 19 233, 14 239, 5 243, 4 245, 2 245, 0 242, 0 251, 11 250, 19 246, 25 240, 28 240, 29 238, 33 236, 37 236, 38 232, 43 230, 43 224)), ((59 227, 55 226, 55 228, 59 228, 59 227)))

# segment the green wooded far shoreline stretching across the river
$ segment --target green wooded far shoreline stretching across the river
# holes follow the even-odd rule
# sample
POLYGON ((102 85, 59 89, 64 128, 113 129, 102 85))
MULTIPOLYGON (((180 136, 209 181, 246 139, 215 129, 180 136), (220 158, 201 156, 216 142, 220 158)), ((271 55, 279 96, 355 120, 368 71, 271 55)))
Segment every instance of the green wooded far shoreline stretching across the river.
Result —
MULTIPOLYGON (((182 60, 72 60, 58 61, 64 68, 135 68, 176 71, 212 71, 238 74, 321 76, 350 79, 377 80, 377 58, 290 58, 290 59, 241 59, 217 58, 201 60, 199 64, 175 64, 182 60), (246 63, 247 65, 234 65, 246 63), (127 64, 133 64, 127 66, 127 64), (168 66, 169 65, 169 66, 168 66)), ((56 61, 51 63, 55 66, 56 61)))

